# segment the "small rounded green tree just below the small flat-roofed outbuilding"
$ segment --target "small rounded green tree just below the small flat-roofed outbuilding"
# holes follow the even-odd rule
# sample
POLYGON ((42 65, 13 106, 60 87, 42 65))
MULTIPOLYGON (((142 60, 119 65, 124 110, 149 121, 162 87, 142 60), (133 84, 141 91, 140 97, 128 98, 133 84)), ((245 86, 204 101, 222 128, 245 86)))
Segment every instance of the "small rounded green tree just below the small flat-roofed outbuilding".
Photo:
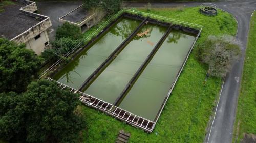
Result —
POLYGON ((76 40, 80 39, 81 36, 82 32, 78 26, 66 22, 57 28, 55 39, 58 40, 60 38, 68 37, 73 40, 76 40))

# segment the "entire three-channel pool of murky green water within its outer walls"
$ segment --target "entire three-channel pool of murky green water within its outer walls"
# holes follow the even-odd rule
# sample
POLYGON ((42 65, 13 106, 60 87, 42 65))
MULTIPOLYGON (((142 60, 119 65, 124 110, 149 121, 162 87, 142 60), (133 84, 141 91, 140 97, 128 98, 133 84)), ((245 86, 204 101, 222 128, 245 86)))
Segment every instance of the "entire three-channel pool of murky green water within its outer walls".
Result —
MULTIPOLYGON (((138 19, 121 18, 53 79, 150 120, 153 125, 198 31, 143 17, 138 19), (122 48, 116 52, 120 46, 122 48), (157 50, 153 50, 156 47, 157 50), (94 74, 98 71, 96 69, 100 71, 94 74), (87 82, 88 79, 91 81, 87 82)), ((138 126, 137 123, 135 126, 138 126)))

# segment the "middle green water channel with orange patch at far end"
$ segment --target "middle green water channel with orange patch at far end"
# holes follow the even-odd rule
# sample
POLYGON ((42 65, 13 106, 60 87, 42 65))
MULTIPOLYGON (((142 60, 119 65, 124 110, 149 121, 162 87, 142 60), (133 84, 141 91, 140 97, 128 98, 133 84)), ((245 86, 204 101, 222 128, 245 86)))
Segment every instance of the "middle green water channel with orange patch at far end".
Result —
MULTIPOLYGON (((167 28, 146 24, 119 55, 85 90, 103 101, 114 103, 167 28)), ((130 104, 133 106, 133 103, 130 104)))

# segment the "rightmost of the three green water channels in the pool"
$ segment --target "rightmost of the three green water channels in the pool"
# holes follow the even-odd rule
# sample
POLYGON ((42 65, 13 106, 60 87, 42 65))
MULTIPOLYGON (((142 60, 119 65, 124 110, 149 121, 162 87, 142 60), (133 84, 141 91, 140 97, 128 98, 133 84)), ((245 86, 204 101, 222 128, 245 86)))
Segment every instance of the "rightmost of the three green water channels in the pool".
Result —
POLYGON ((154 121, 194 40, 194 36, 171 30, 119 107, 154 121))

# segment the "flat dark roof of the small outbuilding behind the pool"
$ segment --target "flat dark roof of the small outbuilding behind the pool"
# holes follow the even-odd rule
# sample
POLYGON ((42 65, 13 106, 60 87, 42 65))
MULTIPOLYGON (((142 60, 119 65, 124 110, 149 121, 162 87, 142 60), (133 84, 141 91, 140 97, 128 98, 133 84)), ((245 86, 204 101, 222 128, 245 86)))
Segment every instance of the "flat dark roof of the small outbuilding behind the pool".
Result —
POLYGON ((61 19, 79 24, 89 16, 90 14, 88 13, 88 10, 84 9, 81 5, 78 8, 71 11, 70 13, 68 13, 67 15, 61 17, 61 19))

